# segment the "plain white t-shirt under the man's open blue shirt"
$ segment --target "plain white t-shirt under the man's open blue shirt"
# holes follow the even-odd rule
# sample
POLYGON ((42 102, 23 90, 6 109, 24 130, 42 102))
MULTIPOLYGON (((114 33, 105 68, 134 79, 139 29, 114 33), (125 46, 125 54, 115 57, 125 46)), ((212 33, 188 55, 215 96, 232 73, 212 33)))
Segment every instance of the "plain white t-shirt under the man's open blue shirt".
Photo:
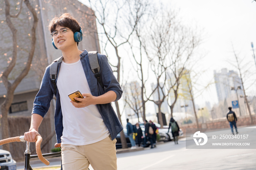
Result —
POLYGON ((63 115, 63 144, 89 145, 109 136, 108 128, 96 105, 76 108, 68 97, 68 94, 77 90, 82 94, 91 94, 80 60, 71 64, 61 63, 57 87, 63 115))

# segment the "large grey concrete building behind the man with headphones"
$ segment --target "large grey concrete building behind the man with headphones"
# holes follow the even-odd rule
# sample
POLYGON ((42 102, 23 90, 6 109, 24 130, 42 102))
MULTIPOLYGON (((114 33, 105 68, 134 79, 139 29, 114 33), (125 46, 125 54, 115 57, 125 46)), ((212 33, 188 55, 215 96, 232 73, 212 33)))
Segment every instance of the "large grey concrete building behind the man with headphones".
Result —
MULTIPOLYGON (((8 114, 9 116, 31 115, 34 98, 39 90, 46 66, 62 55, 60 50, 56 50, 53 47, 52 36, 48 30, 49 21, 54 16, 65 12, 71 13, 78 20, 83 30, 83 40, 79 43, 78 48, 80 50, 86 49, 87 51, 100 52, 96 20, 92 9, 77 0, 34 0, 30 2, 37 12, 39 19, 36 29, 36 49, 29 74, 22 80, 14 92, 14 100, 8 114)), ((18 13, 19 3, 10 0, 10 4, 11 14, 18 13)), ((12 82, 23 69, 30 50, 30 33, 33 24, 33 16, 25 3, 23 3, 22 8, 19 17, 12 18, 12 23, 18 31, 18 60, 9 76, 10 82, 12 82)), ((12 59, 12 39, 10 36, 12 33, 5 21, 4 9, 1 9, 0 12, 0 28, 4 30, 0 33, 0 72, 3 72, 12 59)), ((7 91, 0 78, 0 104, 4 101, 6 94, 7 91)), ((51 120, 54 120, 54 107, 55 100, 53 99, 48 114, 46 115, 50 116, 51 120)), ((50 128, 52 131, 54 130, 53 121, 50 128)))

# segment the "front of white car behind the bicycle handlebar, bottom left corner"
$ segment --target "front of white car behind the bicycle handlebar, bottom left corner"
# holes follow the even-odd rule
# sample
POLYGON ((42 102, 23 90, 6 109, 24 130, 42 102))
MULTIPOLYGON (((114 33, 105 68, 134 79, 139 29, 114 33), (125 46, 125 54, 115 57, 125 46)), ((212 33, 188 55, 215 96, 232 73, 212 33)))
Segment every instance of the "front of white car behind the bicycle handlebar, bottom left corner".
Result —
POLYGON ((11 153, 0 149, 0 170, 16 170, 16 161, 12 159, 11 153))

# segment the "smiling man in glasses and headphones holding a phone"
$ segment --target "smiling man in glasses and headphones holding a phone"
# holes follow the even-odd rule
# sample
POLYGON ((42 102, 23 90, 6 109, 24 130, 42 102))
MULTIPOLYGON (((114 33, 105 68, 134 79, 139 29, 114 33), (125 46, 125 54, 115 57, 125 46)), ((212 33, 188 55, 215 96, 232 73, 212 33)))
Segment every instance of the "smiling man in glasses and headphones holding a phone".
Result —
POLYGON ((35 97, 31 126, 24 134, 25 140, 36 141, 38 128, 55 95, 54 124, 57 146, 61 146, 63 170, 87 170, 90 164, 94 170, 117 170, 115 138, 123 127, 110 102, 119 100, 123 91, 108 59, 98 54, 102 89, 90 69, 88 52, 78 49, 79 41, 75 36, 82 33, 78 21, 64 13, 50 21, 49 30, 53 45, 63 54, 58 59, 57 91, 55 93, 48 66, 35 97), (84 97, 75 98, 79 103, 68 97, 77 90, 84 97))

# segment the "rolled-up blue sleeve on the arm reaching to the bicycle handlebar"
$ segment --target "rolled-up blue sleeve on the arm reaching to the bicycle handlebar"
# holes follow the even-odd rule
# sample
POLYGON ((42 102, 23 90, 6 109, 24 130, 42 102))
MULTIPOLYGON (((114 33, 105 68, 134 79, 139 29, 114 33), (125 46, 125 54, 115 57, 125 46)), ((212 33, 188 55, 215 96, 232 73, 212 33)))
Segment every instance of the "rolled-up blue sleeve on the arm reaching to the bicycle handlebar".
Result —
POLYGON ((39 114, 43 118, 49 110, 50 102, 53 99, 53 91, 50 86, 49 66, 45 70, 39 91, 35 96, 32 114, 39 114))

